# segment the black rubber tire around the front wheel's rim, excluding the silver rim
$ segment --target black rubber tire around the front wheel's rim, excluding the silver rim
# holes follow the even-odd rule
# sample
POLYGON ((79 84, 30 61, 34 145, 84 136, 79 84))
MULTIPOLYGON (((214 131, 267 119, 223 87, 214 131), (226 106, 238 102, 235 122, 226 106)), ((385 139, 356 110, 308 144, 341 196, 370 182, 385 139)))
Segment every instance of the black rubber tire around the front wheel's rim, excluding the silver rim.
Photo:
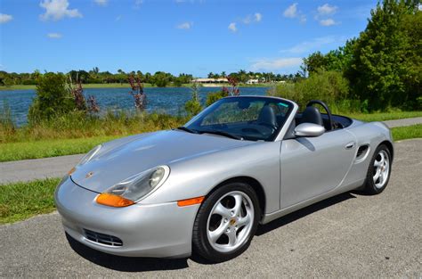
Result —
POLYGON ((195 219, 193 236, 192 236, 192 249, 196 254, 199 254, 200 257, 206 258, 212 262, 222 262, 229 260, 231 258, 236 258, 245 250, 248 249, 252 238, 256 233, 256 228, 258 226, 259 217, 261 216, 259 208, 259 201, 256 196, 254 189, 245 183, 231 183, 228 185, 223 185, 217 188, 214 192, 210 193, 206 200, 201 204, 197 217, 195 219), (215 203, 223 197, 224 194, 230 193, 233 191, 239 191, 248 195, 249 199, 252 201, 254 206, 254 221, 252 229, 248 235, 248 240, 243 243, 237 250, 233 250, 230 253, 223 253, 215 250, 208 241, 207 237, 207 222, 211 210, 214 208, 215 203))

